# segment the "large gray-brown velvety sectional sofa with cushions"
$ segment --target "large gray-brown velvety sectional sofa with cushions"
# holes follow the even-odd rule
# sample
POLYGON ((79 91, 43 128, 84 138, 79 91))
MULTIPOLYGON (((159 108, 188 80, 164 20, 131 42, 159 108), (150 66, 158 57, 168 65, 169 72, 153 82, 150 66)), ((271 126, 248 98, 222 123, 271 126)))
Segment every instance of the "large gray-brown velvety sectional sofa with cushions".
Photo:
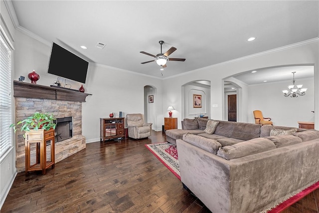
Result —
POLYGON ((319 131, 217 121, 208 134, 207 121, 165 134, 182 183, 212 213, 262 212, 319 181, 319 131))

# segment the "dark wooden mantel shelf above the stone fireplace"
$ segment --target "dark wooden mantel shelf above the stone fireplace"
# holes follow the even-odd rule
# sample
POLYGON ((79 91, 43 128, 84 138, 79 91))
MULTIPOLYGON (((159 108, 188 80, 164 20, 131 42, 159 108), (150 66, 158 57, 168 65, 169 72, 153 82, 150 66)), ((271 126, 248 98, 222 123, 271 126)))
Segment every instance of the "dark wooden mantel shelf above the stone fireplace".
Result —
POLYGON ((31 84, 22 81, 13 81, 13 96, 24 98, 43 98, 50 100, 63 101, 79 101, 85 102, 88 93, 83 93, 75 90, 65 88, 56 88, 50 86, 42 86, 38 84, 31 84))

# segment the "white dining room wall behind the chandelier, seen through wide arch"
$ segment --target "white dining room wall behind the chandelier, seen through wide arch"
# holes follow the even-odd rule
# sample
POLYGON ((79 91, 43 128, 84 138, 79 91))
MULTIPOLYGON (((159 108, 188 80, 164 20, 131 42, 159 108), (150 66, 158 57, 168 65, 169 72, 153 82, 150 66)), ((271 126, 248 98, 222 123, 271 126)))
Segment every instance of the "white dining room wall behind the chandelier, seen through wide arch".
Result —
POLYGON ((285 97, 282 90, 291 85, 291 81, 264 83, 249 86, 248 117, 249 123, 255 123, 253 111, 261 110, 264 117, 270 117, 274 125, 298 127, 298 121, 314 122, 315 109, 314 79, 296 81, 308 88, 306 95, 296 98, 285 97))

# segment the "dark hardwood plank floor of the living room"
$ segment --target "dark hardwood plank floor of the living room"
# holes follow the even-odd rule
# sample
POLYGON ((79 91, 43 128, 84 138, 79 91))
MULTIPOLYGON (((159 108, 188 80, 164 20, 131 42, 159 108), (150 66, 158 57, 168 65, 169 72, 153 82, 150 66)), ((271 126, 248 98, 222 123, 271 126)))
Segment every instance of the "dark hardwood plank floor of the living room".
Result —
MULTIPOLYGON (((1 213, 210 213, 144 146, 148 139, 96 142, 47 174, 17 174, 1 213)), ((319 190, 285 210, 318 213, 319 190)))

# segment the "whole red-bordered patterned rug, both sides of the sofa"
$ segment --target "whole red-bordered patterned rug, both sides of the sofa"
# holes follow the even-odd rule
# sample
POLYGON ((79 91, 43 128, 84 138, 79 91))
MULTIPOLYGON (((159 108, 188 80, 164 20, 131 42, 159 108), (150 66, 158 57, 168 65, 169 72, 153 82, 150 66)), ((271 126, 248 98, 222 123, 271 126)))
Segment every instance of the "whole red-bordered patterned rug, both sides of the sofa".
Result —
MULTIPOLYGON (((145 146, 180 180, 178 154, 175 145, 170 143, 158 143, 146 144, 145 146)), ((290 197, 286 201, 274 205, 273 208, 265 210, 263 213, 280 213, 317 189, 319 189, 319 182, 290 197)))

